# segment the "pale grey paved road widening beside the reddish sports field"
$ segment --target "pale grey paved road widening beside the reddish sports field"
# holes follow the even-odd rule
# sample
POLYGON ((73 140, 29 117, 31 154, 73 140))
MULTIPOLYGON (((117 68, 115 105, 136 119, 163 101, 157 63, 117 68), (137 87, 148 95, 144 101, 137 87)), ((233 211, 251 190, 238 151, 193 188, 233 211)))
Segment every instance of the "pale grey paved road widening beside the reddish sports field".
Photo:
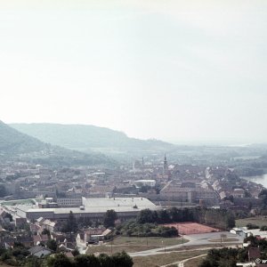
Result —
MULTIPOLYGON (((221 231, 221 232, 211 232, 211 233, 205 233, 205 234, 193 234, 188 236, 183 236, 184 239, 188 239, 189 242, 174 246, 168 246, 168 247, 158 247, 153 248, 149 250, 143 250, 139 252, 129 253, 131 257, 137 257, 137 256, 150 256, 150 255, 158 255, 158 254, 164 254, 164 253, 171 253, 169 249, 175 249, 175 248, 181 248, 181 247, 191 247, 191 246, 203 246, 203 247, 214 247, 214 245, 220 245, 220 242, 210 242, 210 239, 221 239, 221 234, 227 235, 227 238, 231 239, 238 239, 238 241, 232 241, 227 242, 227 246, 232 246, 236 244, 242 244, 243 238, 239 237, 238 235, 232 234, 229 231, 221 231)), ((196 249, 195 249, 196 250, 196 249)))

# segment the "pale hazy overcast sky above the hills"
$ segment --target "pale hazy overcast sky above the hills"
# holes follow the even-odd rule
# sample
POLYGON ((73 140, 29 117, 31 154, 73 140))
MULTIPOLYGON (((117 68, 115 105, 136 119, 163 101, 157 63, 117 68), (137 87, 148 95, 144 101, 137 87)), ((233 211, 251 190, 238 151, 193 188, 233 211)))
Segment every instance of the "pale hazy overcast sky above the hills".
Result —
POLYGON ((1 0, 0 120, 267 142, 266 44, 265 0, 1 0))

